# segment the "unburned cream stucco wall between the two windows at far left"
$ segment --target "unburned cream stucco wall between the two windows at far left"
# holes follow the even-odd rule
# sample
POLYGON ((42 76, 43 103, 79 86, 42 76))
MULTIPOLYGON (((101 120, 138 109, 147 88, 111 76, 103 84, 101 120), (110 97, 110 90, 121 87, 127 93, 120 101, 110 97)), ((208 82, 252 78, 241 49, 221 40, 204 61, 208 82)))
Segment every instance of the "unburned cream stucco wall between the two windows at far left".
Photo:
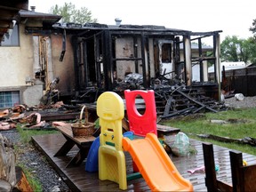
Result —
POLYGON ((20 46, 0 46, 0 92, 20 92, 20 104, 38 105, 43 96, 42 84, 26 84, 33 79, 32 36, 26 35, 20 25, 20 46))

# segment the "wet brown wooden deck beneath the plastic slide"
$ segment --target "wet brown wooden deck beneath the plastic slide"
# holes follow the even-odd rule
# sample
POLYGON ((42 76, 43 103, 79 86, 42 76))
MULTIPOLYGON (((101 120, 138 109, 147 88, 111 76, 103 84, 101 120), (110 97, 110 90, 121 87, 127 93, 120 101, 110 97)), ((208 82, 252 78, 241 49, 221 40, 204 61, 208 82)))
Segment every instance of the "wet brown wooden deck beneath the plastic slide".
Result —
MULTIPOLYGON (((173 137, 173 136, 167 136, 173 137)), ((38 148, 48 161, 52 164, 53 168, 60 174, 68 187, 72 191, 119 191, 118 184, 109 180, 99 180, 98 172, 85 172, 85 162, 79 167, 68 167, 66 165, 76 154, 78 148, 74 147, 67 156, 54 156, 65 142, 62 134, 49 134, 34 136, 32 138, 34 145, 38 148)), ((172 140, 172 139, 171 139, 172 140)), ((167 138, 167 142, 169 142, 167 138)), ((204 177, 205 173, 190 174, 188 170, 196 169, 197 167, 204 166, 204 155, 202 142, 198 140, 190 140, 192 146, 197 150, 197 155, 177 157, 170 155, 172 162, 177 167, 180 174, 187 180, 190 180, 195 191, 206 191, 204 177)), ((218 180, 231 183, 231 171, 229 161, 228 148, 221 148, 213 146, 215 164, 220 166, 220 171, 217 173, 218 180)), ((125 153, 127 174, 132 172, 132 157, 125 153)), ((256 156, 243 154, 244 160, 248 164, 256 164, 256 156)), ((157 165, 156 165, 157 166, 157 165)), ((170 183, 172 185, 172 183, 170 183)), ((136 180, 129 180, 127 182, 127 191, 146 191, 150 190, 147 183, 143 178, 136 180)))

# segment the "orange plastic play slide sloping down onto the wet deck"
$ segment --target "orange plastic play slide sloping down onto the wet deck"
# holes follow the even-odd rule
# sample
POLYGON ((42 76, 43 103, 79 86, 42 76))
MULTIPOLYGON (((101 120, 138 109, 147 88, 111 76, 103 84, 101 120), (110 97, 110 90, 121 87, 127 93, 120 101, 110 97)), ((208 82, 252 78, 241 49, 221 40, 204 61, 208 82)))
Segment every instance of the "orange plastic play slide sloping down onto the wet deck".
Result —
POLYGON ((123 148, 128 151, 141 175, 152 191, 193 191, 192 184, 178 172, 171 158, 154 133, 145 139, 123 139, 123 148))

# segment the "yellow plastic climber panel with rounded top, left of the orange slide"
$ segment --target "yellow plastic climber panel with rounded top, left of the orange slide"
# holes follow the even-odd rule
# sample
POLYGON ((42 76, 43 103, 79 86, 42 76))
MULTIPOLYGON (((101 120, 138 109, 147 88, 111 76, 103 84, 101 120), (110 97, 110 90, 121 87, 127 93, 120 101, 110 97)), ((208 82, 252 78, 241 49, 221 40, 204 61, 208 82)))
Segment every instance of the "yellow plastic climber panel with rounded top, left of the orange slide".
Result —
POLYGON ((127 189, 122 139, 124 102, 116 92, 103 92, 97 100, 100 117, 99 178, 119 183, 127 189))

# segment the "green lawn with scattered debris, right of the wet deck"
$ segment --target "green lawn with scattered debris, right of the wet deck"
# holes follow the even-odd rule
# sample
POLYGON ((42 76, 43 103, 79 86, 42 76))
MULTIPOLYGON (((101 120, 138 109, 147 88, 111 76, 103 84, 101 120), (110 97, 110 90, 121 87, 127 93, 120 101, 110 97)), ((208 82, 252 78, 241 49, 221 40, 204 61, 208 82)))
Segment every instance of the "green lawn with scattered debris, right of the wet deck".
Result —
POLYGON ((256 108, 236 109, 221 111, 218 113, 205 113, 202 116, 184 116, 170 120, 164 120, 161 124, 180 128, 189 138, 212 142, 225 148, 236 149, 244 153, 256 156, 255 147, 225 143, 216 140, 206 140, 197 137, 197 134, 212 134, 231 139, 243 139, 244 137, 256 138, 256 108), (227 124, 213 124, 211 120, 223 120, 227 124), (231 123, 237 121, 236 123, 231 123))

